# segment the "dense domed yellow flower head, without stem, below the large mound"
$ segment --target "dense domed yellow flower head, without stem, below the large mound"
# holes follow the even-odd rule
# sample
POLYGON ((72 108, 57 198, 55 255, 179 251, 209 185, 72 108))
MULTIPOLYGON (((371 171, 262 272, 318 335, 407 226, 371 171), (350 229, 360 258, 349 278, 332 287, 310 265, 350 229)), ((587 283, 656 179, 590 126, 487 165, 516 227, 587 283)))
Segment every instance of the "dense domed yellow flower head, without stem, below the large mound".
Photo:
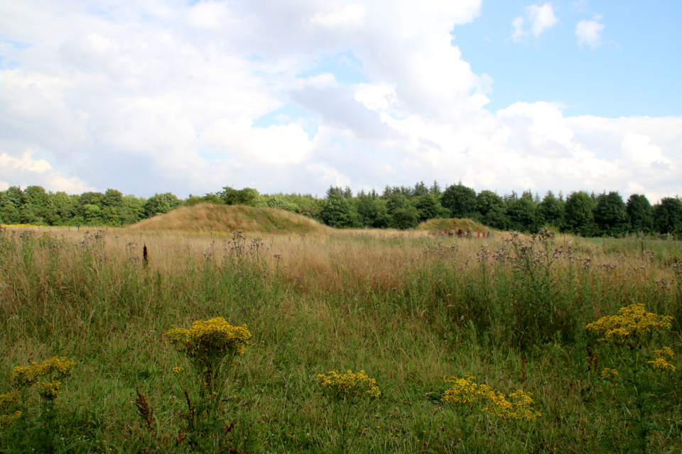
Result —
POLYGON ((251 333, 247 326, 232 326, 222 317, 197 320, 191 329, 172 327, 166 336, 190 359, 243 355, 251 333))

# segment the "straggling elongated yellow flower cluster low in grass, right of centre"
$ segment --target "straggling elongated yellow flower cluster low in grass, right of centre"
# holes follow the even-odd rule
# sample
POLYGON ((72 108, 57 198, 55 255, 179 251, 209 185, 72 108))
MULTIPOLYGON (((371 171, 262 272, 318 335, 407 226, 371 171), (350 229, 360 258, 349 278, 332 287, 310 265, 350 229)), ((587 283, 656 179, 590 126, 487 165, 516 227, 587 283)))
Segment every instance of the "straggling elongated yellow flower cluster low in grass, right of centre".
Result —
POLYGON ((535 421, 538 416, 542 416, 532 407, 532 394, 526 394, 518 389, 511 393, 509 402, 501 392, 495 391, 487 384, 478 384, 475 380, 476 378, 470 375, 465 375, 464 378, 450 377, 447 381, 453 383, 453 387, 445 392, 443 402, 448 404, 485 402, 483 411, 507 420, 535 421))

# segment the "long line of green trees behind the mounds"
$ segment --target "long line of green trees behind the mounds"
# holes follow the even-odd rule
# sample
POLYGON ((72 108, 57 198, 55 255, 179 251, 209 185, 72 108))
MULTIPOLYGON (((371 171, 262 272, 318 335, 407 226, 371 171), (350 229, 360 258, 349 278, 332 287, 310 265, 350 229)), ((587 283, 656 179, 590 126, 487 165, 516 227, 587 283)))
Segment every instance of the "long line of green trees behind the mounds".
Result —
POLYGON ((520 195, 479 193, 461 182, 442 189, 438 182, 413 187, 386 186, 383 192, 330 187, 325 196, 260 194, 256 189, 224 187, 203 196, 178 199, 170 192, 148 199, 116 189, 80 195, 46 192, 43 187, 9 187, 0 191, 0 223, 45 226, 126 226, 179 206, 210 202, 271 206, 314 218, 336 228, 413 228, 433 218, 471 218, 499 230, 537 232, 551 227, 580 236, 630 233, 682 236, 682 199, 664 197, 651 205, 642 194, 625 201, 618 192, 548 191, 542 198, 530 190, 520 195))

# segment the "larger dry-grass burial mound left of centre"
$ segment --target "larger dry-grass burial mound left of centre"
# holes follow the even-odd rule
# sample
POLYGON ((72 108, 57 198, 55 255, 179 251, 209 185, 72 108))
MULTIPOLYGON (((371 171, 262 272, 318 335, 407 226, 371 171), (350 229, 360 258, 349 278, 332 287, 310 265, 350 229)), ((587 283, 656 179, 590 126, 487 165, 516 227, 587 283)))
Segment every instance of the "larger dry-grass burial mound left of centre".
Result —
POLYGON ((257 233, 327 233, 331 228, 277 208, 245 205, 197 204, 181 206, 136 223, 129 230, 144 231, 234 231, 257 233))

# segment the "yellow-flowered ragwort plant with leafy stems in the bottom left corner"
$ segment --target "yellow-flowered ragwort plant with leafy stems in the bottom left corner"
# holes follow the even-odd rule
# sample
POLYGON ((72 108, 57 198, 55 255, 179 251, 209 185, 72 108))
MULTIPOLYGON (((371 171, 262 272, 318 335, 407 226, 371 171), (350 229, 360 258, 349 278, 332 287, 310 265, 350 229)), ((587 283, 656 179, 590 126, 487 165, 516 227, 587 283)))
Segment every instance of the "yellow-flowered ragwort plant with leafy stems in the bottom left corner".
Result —
POLYGON ((13 390, 0 394, 1 438, 16 449, 53 452, 60 428, 56 401, 74 366, 75 362, 55 356, 41 364, 14 367, 13 390))

